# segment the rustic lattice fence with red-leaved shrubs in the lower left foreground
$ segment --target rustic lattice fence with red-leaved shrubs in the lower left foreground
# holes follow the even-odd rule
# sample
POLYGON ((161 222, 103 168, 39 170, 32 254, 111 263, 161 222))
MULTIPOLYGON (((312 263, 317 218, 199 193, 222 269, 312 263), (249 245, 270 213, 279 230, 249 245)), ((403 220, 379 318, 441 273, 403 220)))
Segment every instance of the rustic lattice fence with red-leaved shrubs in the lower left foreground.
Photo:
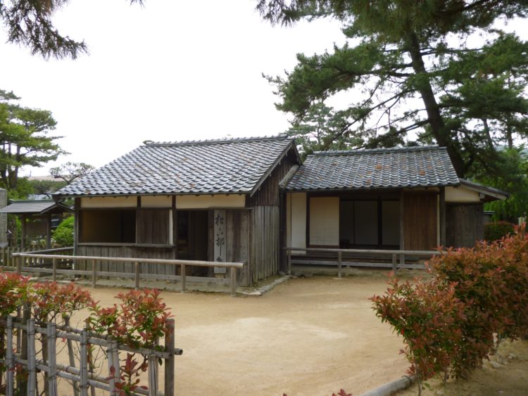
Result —
POLYGON ((148 357, 148 390, 136 388, 132 395, 172 396, 175 389, 174 367, 175 355, 182 355, 183 351, 175 348, 174 320, 169 319, 168 334, 165 344, 160 348, 132 348, 118 344, 109 336, 89 332, 86 328, 77 329, 70 326, 58 327, 54 323, 46 327, 37 326, 34 319, 8 316, 0 319, 0 331, 6 344, 4 364, 6 376, 6 395, 13 396, 15 391, 27 389, 28 396, 35 396, 37 392, 37 371, 44 372, 44 389, 47 396, 58 395, 57 380, 65 378, 72 383, 71 395, 95 395, 95 390, 110 392, 111 396, 119 395, 116 383, 120 382, 120 351, 131 352, 148 357), (38 335, 41 336, 38 336, 38 335), (59 338, 59 340, 58 340, 59 338), (58 362, 57 343, 65 339, 68 345, 68 364, 58 362), (75 364, 73 343, 77 343, 79 364, 75 364), (106 354, 105 369, 94 369, 93 348, 99 346, 106 354), (37 350, 39 347, 39 350, 37 350), (37 358, 39 357, 40 358, 37 358), (92 357, 92 359, 91 359, 92 357), (163 393, 159 389, 158 359, 163 359, 165 367, 163 393), (27 371, 27 378, 17 378, 16 373, 22 367, 27 371), (112 374, 113 373, 113 374, 112 374))

